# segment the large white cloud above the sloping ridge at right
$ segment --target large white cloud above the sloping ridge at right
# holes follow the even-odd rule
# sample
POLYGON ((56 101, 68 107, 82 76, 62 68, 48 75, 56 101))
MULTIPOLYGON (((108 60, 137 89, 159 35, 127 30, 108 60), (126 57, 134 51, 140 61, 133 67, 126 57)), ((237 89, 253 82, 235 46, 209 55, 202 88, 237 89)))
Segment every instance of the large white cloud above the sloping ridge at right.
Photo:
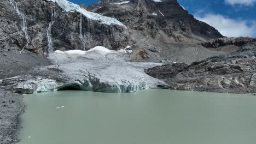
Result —
POLYGON ((256 22, 230 19, 223 15, 206 14, 203 16, 195 15, 197 20, 208 23, 216 28, 226 37, 255 37, 256 22))

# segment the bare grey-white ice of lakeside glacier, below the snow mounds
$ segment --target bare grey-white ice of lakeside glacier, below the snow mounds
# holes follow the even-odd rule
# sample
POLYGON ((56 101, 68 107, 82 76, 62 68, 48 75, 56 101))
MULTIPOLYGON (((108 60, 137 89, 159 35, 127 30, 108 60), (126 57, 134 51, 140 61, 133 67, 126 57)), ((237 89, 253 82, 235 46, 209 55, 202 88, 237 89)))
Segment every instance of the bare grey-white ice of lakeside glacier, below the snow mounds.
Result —
MULTIPOLYGON (((77 89, 95 92, 136 92, 158 88, 166 83, 144 73, 144 69, 158 63, 131 63, 117 61, 77 61, 60 64, 69 81, 57 89, 77 89)), ((54 67, 54 66, 53 66, 54 67)))

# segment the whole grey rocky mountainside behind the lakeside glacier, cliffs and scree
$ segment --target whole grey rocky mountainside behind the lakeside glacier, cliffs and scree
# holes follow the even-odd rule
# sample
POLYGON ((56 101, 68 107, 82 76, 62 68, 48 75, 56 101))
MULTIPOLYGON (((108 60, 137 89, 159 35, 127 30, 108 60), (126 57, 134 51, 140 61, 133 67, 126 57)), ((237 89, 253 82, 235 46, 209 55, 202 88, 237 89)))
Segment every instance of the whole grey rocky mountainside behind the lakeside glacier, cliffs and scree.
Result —
POLYGON ((89 50, 98 45, 120 50, 130 46, 130 50, 136 51, 133 57, 137 62, 188 64, 219 55, 197 43, 222 38, 222 35, 195 20, 177 1, 115 0, 89 7, 73 7, 70 3, 66 7, 63 2, 66 0, 1 1, 0 51, 24 49, 45 57, 55 50, 89 50), (73 10, 77 8, 119 21, 106 18, 109 22, 103 22, 98 18, 102 16, 84 15, 73 10), (145 54, 142 58, 141 50, 145 54), (182 58, 183 53, 188 56, 182 58))

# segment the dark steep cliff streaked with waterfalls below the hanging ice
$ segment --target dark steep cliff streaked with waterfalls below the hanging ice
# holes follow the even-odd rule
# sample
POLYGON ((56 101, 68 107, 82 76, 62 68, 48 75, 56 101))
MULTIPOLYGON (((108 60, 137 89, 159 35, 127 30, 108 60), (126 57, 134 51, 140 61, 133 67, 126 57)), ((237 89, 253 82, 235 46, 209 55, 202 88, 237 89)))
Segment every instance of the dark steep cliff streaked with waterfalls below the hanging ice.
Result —
POLYGON ((77 11, 63 11, 51 1, 4 0, 0 8, 0 47, 4 50, 21 50, 28 43, 24 30, 30 38, 25 49, 37 55, 48 53, 49 41, 53 50, 83 50, 97 45, 117 50, 129 43, 124 26, 91 20, 77 11))

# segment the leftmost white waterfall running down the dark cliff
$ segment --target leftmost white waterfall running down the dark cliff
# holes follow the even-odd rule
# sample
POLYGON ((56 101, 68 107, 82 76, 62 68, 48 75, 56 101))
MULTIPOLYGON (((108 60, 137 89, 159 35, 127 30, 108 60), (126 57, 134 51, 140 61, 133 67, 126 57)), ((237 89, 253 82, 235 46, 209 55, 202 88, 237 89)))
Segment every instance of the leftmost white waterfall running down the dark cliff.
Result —
MULTIPOLYGON (((16 12, 19 16, 19 19, 21 20, 21 24, 20 24, 21 30, 22 30, 22 32, 24 32, 25 38, 26 38, 26 45, 22 48, 22 51, 24 51, 25 47, 27 47, 28 44, 30 44, 30 42, 31 42, 30 36, 27 33, 27 19, 26 19, 25 15, 20 12, 20 10, 18 9, 18 5, 15 1, 9 0, 9 2, 11 4, 11 6, 16 10, 16 12)), ((22 51, 20 51, 20 53, 22 51)))

